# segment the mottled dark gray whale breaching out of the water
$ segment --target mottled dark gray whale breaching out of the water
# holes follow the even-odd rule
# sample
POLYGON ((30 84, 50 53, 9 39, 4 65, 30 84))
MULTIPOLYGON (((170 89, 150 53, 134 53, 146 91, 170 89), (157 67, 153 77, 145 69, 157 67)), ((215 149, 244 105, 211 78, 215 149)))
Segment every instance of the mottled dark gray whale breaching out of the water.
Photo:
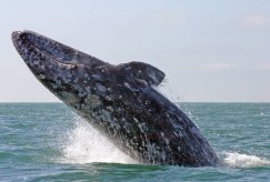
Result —
POLYGON ((32 31, 12 41, 37 79, 124 153, 146 164, 214 165, 218 158, 192 121, 157 92, 164 73, 112 65, 32 31))

